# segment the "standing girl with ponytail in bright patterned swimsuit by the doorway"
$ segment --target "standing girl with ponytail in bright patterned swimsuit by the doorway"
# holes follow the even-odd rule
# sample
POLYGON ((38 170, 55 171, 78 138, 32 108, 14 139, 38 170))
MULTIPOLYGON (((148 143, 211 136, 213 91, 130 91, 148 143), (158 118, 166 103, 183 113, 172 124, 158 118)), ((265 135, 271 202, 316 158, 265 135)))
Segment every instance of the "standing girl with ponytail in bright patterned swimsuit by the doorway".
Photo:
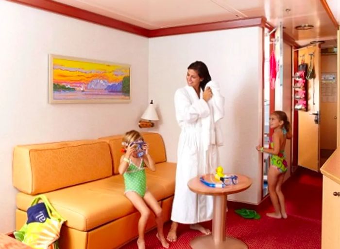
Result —
POLYGON ((271 154, 271 165, 268 171, 269 196, 274 207, 274 213, 268 213, 272 218, 287 218, 285 197, 281 191, 288 164, 285 156, 286 140, 291 139, 290 124, 284 111, 274 111, 270 116, 270 127, 274 129, 270 148, 256 146, 256 150, 271 154))

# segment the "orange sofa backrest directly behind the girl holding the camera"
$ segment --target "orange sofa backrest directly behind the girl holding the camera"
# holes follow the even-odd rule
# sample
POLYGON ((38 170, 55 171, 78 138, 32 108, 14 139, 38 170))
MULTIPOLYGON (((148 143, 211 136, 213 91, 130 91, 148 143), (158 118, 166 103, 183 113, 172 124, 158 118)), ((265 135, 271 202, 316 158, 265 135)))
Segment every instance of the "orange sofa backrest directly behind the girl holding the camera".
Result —
MULTIPOLYGON (((153 157, 154 162, 161 163, 167 161, 165 146, 161 135, 154 132, 142 132, 141 135, 145 142, 149 144, 150 156, 153 157)), ((121 145, 122 139, 123 135, 103 137, 99 139, 108 142, 110 145, 114 174, 119 173, 119 161, 121 155, 123 155, 121 152, 121 149, 123 148, 121 145)))

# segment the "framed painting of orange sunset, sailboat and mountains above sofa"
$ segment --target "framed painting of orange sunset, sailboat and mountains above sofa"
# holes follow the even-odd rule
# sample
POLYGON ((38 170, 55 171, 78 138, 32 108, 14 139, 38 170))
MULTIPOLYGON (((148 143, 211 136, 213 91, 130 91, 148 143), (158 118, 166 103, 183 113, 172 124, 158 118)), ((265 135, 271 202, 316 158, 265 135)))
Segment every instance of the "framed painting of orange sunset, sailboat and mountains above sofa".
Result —
POLYGON ((130 102, 130 65, 49 56, 49 103, 130 102))

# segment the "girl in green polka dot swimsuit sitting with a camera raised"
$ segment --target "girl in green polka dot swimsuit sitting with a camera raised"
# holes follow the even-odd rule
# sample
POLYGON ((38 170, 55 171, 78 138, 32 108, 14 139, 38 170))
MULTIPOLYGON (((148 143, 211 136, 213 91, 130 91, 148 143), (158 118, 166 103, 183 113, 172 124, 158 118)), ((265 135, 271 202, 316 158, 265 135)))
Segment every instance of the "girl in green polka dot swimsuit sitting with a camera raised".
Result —
POLYGON ((119 174, 124 176, 125 196, 132 202, 140 213, 138 221, 138 249, 145 249, 144 232, 150 216, 150 208, 155 214, 157 238, 164 248, 169 243, 163 233, 162 208, 146 187, 145 167, 155 171, 153 158, 149 155, 149 145, 144 142, 139 132, 132 130, 125 133, 122 144, 126 153, 121 156, 119 174))

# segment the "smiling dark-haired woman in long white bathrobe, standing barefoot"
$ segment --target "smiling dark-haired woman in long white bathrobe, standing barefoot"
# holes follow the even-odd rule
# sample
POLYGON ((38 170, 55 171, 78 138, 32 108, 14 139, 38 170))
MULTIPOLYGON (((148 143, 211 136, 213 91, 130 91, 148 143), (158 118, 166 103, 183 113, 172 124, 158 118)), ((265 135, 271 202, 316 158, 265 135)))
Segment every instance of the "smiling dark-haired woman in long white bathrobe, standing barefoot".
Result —
POLYGON ((177 149, 177 170, 175 195, 171 212, 169 241, 177 240, 178 223, 190 224, 190 228, 210 234, 210 230, 198 224, 212 219, 213 199, 190 191, 187 182, 206 173, 202 140, 201 120, 210 114, 208 100, 212 97, 210 88, 204 87, 211 80, 208 68, 203 62, 193 62, 187 68, 187 86, 175 93, 176 119, 181 127, 177 149))

